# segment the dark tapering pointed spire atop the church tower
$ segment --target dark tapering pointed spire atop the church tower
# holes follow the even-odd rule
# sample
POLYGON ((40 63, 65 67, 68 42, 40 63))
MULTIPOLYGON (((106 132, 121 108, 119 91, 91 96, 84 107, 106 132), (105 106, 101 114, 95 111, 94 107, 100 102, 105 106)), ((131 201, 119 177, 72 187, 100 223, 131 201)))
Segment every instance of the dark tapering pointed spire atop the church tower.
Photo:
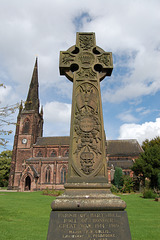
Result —
POLYGON ((32 80, 30 83, 25 110, 35 110, 39 113, 39 97, 38 97, 38 59, 36 58, 32 80))

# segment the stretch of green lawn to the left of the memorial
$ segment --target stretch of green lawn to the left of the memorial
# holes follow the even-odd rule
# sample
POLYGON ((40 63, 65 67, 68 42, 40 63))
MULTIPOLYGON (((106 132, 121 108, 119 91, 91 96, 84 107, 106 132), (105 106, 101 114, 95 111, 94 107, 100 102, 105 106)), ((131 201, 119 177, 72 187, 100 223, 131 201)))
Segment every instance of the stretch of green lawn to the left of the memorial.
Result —
POLYGON ((41 192, 0 192, 0 239, 46 239, 52 200, 41 192))

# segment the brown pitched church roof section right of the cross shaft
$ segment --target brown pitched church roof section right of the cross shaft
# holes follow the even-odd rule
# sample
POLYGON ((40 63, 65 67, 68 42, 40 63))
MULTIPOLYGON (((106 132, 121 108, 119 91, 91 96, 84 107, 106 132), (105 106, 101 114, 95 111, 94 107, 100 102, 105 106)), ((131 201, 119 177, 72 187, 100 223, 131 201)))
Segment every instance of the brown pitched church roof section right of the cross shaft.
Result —
POLYGON ((143 152, 136 139, 128 140, 107 140, 106 141, 108 156, 138 156, 143 152))

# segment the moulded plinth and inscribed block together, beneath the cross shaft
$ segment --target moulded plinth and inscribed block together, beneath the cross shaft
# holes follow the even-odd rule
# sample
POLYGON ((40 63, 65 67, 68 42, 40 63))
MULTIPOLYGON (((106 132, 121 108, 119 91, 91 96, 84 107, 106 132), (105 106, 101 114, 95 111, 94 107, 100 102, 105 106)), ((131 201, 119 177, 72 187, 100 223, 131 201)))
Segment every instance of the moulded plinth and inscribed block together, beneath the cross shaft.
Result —
POLYGON ((66 184, 52 202, 47 240, 131 240, 126 203, 110 184, 66 184))

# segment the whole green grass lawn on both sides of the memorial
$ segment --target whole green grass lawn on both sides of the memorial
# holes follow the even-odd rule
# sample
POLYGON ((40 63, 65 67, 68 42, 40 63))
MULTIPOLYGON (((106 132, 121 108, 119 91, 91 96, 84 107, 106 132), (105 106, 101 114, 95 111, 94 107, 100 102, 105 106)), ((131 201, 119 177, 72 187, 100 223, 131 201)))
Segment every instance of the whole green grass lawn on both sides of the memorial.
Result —
MULTIPOLYGON (((138 194, 121 198, 127 203, 132 240, 159 240, 160 202, 138 194)), ((52 201, 41 192, 0 192, 0 239, 46 239, 52 201)))

